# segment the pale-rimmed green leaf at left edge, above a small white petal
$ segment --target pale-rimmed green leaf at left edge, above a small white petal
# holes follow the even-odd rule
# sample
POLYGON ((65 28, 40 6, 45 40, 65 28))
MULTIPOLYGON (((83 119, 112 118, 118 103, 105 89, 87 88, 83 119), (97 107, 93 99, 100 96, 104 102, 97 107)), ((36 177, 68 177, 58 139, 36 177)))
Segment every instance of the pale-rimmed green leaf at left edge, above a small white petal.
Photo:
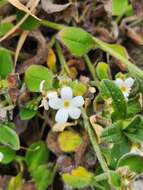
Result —
POLYGON ((20 149, 18 135, 13 129, 4 124, 0 125, 0 143, 7 145, 14 150, 20 149))

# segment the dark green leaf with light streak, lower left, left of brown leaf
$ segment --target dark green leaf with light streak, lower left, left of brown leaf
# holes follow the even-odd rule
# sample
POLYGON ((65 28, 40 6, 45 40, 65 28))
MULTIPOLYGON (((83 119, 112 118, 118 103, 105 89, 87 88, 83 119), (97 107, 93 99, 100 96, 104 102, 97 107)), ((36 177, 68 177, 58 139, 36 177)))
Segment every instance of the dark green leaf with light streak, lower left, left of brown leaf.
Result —
POLYGON ((29 171, 37 169, 38 166, 47 163, 49 150, 43 141, 33 143, 26 152, 25 157, 29 171))

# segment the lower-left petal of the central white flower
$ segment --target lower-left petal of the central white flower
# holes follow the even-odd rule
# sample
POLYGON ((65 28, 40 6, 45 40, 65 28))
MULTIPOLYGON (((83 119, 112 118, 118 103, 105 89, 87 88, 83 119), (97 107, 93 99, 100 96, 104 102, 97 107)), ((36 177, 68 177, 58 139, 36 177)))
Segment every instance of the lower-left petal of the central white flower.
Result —
POLYGON ((61 108, 57 111, 55 120, 57 123, 65 123, 68 120, 68 111, 61 108))

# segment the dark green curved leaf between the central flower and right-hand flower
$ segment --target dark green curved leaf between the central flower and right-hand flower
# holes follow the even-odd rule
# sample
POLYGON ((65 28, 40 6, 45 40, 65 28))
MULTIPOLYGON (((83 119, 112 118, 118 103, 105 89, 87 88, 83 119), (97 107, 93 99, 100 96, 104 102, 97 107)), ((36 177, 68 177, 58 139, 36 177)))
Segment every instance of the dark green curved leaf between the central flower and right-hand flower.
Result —
POLYGON ((106 96, 108 95, 112 98, 112 103, 115 111, 114 117, 116 115, 116 118, 125 118, 127 111, 126 100, 118 86, 116 86, 113 81, 104 79, 101 82, 100 90, 103 96, 105 94, 106 96))

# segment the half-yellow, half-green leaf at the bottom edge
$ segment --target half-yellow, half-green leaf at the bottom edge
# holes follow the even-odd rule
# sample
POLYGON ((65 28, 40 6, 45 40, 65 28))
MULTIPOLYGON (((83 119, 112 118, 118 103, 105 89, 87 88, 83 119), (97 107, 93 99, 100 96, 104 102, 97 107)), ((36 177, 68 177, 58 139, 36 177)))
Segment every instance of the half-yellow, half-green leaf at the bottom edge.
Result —
POLYGON ((73 188, 84 188, 92 185, 93 174, 83 167, 73 169, 71 174, 64 173, 62 178, 65 183, 73 188))

